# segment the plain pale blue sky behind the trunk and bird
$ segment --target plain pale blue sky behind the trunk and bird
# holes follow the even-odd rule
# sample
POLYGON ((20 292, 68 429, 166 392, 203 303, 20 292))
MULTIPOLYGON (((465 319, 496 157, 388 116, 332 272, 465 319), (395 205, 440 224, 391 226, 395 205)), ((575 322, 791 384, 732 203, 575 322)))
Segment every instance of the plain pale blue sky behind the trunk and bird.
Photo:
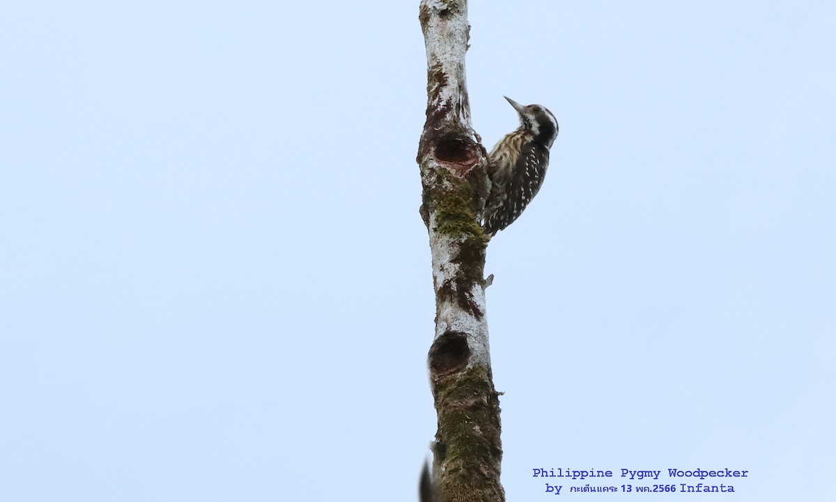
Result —
MULTIPOLYGON (((0 7, 0 500, 416 499, 417 13, 0 7)), ((832 499, 836 4, 470 19, 487 147, 516 126, 502 95, 561 129, 488 249, 507 499, 553 498, 532 469, 561 467, 832 499)))

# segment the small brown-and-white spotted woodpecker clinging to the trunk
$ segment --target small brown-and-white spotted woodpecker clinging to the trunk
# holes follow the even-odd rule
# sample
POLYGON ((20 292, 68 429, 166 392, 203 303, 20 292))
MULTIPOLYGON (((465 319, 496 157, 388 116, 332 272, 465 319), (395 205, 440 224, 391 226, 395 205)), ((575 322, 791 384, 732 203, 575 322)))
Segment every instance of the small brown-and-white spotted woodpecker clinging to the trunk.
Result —
POLYGON ((482 226, 489 237, 511 225, 537 195, 546 176, 548 150, 558 137, 558 120, 546 107, 505 99, 517 110, 520 126, 487 155, 492 186, 482 226))

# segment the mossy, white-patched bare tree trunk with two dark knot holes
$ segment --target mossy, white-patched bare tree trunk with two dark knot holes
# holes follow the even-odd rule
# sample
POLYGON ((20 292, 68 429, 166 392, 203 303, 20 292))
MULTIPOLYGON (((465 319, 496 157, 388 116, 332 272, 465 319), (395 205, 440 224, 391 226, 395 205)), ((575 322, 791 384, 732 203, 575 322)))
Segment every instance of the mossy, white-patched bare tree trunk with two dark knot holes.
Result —
POLYGON ((427 106, 417 160, 436 291, 436 335, 428 357, 438 413, 432 497, 502 502, 499 398, 485 319, 487 237, 479 225, 490 181, 467 100, 467 2, 422 0, 420 20, 427 106))

